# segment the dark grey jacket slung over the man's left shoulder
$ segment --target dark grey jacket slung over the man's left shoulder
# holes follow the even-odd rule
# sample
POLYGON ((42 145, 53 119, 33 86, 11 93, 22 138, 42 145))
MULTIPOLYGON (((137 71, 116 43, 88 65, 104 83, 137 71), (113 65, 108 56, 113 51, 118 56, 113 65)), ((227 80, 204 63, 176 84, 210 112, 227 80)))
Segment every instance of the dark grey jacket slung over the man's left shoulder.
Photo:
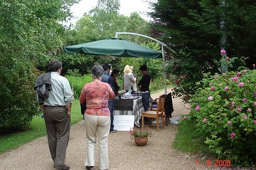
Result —
POLYGON ((36 80, 34 89, 38 94, 39 105, 43 105, 44 100, 49 98, 49 90, 52 90, 51 72, 40 75, 36 80))

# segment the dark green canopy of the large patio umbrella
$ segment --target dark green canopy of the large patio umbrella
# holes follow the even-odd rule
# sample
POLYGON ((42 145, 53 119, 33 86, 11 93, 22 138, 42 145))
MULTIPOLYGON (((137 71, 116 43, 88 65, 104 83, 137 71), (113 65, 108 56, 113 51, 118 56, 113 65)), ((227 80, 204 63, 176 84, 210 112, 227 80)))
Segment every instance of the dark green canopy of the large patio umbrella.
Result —
POLYGON ((119 57, 162 58, 157 50, 141 46, 121 38, 110 38, 90 43, 64 47, 66 53, 111 55, 119 57))

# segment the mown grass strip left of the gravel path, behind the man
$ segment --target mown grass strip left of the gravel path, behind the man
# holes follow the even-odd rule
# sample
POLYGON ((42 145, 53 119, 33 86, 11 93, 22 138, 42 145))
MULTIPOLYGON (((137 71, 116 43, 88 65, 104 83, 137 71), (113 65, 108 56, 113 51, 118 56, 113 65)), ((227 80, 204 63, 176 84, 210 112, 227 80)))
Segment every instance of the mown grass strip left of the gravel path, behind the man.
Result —
MULTIPOLYGON (((83 120, 80 112, 79 100, 76 99, 73 101, 71 107, 71 125, 83 120)), ((0 138, 0 154, 44 135, 46 135, 44 119, 41 116, 35 116, 31 122, 31 128, 28 131, 10 134, 0 138)))

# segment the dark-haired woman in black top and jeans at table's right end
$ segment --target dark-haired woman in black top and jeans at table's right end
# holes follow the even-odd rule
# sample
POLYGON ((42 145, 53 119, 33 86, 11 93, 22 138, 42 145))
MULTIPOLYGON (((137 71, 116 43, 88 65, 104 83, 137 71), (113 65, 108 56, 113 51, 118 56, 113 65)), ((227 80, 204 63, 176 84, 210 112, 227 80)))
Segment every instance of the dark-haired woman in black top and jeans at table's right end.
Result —
MULTIPOLYGON (((148 68, 146 65, 142 65, 140 67, 140 72, 143 74, 141 80, 138 83, 138 86, 141 91, 141 96, 142 96, 142 104, 143 108, 145 111, 147 111, 150 106, 149 106, 149 97, 150 97, 150 92, 149 92, 149 83, 151 80, 150 75, 148 74, 148 68)), ((145 118, 145 123, 148 123, 147 117, 145 118)))

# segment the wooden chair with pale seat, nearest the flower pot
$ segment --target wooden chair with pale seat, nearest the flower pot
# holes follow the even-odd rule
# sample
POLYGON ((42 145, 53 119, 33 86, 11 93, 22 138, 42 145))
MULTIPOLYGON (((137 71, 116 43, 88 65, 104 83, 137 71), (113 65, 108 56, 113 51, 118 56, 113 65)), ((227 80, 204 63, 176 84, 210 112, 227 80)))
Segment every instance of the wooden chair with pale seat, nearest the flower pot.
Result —
POLYGON ((165 101, 165 96, 166 95, 161 95, 158 98, 158 105, 157 105, 157 109, 156 111, 146 111, 146 112, 142 112, 141 116, 141 128, 144 128, 144 117, 148 117, 149 118, 149 127, 151 124, 151 118, 156 118, 156 127, 157 127, 157 131, 159 131, 159 122, 158 122, 158 118, 162 117, 162 129, 164 129, 164 101, 165 101))

